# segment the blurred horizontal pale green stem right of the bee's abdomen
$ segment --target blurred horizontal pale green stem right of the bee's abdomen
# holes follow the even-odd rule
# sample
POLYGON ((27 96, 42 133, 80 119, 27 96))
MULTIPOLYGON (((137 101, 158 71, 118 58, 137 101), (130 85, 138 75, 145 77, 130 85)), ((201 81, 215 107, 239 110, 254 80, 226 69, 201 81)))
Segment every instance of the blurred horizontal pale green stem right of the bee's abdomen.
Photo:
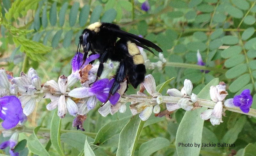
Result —
POLYGON ((192 69, 200 69, 200 70, 210 70, 210 71, 215 71, 218 73, 226 73, 227 72, 227 70, 225 70, 225 69, 208 67, 208 66, 199 66, 199 65, 193 65, 193 64, 188 64, 188 63, 178 63, 178 62, 166 62, 165 66, 192 68, 192 69))

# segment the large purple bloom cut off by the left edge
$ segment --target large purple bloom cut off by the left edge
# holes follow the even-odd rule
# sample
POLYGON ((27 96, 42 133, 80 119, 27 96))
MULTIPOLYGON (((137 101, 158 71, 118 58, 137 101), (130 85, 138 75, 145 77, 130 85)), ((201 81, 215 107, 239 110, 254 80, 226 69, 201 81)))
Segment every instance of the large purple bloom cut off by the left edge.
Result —
POLYGON ((0 98, 0 118, 4 120, 4 129, 14 128, 19 122, 27 119, 23 113, 20 100, 15 96, 5 96, 0 98))

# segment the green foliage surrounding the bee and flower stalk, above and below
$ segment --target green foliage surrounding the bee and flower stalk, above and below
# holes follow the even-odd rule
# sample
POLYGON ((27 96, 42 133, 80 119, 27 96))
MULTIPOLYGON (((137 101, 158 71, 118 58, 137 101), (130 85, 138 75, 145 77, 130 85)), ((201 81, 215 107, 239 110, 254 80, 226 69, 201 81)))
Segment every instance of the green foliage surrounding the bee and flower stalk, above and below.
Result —
MULTIPOLYGON (((33 67, 42 82, 57 80, 60 75, 71 73, 70 60, 83 29, 96 21, 114 22, 163 49, 167 59, 164 68, 147 70, 155 77, 156 84, 175 77, 163 95, 168 88, 181 89, 184 79, 190 79, 194 93, 206 87, 200 95, 207 98, 209 85, 206 84, 220 80, 227 84, 229 98, 250 89, 254 95, 252 108, 256 108, 255 0, 149 0, 148 12, 140 9, 142 2, 2 0, 0 65, 14 76, 33 67), (197 50, 206 66, 196 65, 197 50), (211 72, 206 74, 199 69, 211 72)), ((150 53, 148 58, 151 62, 158 60, 150 53)), ((126 93, 135 92, 130 87, 126 93)), ((48 102, 40 102, 28 116, 26 133, 20 133, 22 141, 15 148, 20 155, 31 152, 37 155, 83 155, 84 152, 86 155, 197 155, 199 152, 228 155, 232 150, 238 151, 237 155, 255 154, 256 120, 246 115, 226 112, 227 117, 219 126, 205 121, 201 127, 188 127, 186 123, 193 118, 184 116, 184 110, 172 113, 170 118, 152 115, 144 122, 138 116, 131 118, 128 109, 124 114, 107 117, 94 109, 87 114, 85 132, 82 132, 72 127, 72 116, 67 114, 60 121, 56 112, 47 111, 48 102), (184 129, 202 129, 196 135, 202 137, 203 143, 224 142, 236 146, 203 147, 201 151, 176 147, 177 140, 192 144, 195 141, 189 139, 193 133, 181 133, 184 129)), ((6 138, 1 137, 3 140, 6 138)), ((5 152, 8 154, 8 150, 5 152)))

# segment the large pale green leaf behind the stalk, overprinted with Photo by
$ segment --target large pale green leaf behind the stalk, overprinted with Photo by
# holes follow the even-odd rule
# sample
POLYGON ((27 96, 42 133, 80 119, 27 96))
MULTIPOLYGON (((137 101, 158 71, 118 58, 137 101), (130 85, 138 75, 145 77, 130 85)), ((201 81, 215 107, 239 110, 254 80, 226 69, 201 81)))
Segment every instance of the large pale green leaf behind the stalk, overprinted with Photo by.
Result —
MULTIPOLYGON (((198 98, 206 100, 211 99, 210 87, 219 84, 219 78, 213 79, 209 82, 197 95, 198 98)), ((202 143, 202 133, 204 120, 201 119, 200 113, 204 112, 207 108, 202 107, 193 111, 186 111, 183 116, 176 135, 176 150, 178 155, 193 156, 199 155, 201 146, 195 147, 195 144, 202 143), (196 137, 195 137, 196 136, 196 137), (180 144, 193 144, 193 147, 181 147, 180 144)))

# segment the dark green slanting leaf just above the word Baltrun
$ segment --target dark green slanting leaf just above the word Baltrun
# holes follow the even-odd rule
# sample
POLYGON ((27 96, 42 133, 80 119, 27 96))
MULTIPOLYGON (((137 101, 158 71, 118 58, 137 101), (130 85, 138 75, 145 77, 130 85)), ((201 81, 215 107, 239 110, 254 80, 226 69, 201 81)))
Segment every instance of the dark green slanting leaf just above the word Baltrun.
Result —
POLYGON ((246 118, 242 116, 236 121, 236 124, 233 128, 229 129, 227 133, 223 136, 221 142, 226 144, 234 144, 238 138, 238 134, 242 131, 246 118))

